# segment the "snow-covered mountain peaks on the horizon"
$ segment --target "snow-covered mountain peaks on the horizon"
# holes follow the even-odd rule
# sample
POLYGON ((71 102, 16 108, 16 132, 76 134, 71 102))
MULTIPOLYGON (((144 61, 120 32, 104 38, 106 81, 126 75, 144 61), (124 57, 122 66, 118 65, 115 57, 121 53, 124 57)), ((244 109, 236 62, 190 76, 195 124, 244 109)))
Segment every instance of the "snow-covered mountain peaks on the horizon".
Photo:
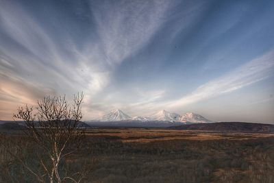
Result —
POLYGON ((179 123, 212 123, 205 117, 193 112, 186 112, 186 114, 179 115, 175 112, 168 112, 166 110, 160 110, 155 112, 150 117, 130 117, 122 110, 112 110, 107 114, 104 114, 97 120, 93 121, 166 121, 166 122, 179 122, 179 123))

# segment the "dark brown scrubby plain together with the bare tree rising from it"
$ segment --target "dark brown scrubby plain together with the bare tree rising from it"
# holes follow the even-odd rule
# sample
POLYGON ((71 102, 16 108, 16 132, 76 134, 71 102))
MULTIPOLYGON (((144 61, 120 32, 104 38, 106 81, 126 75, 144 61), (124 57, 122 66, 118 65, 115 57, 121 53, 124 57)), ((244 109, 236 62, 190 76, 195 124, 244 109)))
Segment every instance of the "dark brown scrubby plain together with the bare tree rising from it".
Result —
POLYGON ((1 136, 0 182, 274 182, 274 134, 85 130, 82 99, 19 108, 27 126, 1 136))

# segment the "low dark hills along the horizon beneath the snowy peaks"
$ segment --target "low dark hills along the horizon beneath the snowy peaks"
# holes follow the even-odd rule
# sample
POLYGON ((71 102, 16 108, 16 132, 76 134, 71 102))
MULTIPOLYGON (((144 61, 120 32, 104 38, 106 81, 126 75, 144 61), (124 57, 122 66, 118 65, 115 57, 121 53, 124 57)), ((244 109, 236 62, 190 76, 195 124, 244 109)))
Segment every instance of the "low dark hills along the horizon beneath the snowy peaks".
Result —
MULTIPOLYGON (((26 130, 24 122, 1 121, 0 132, 26 130)), ((38 125, 38 123, 37 123, 38 125)), ((216 123, 182 123, 170 121, 93 121, 92 123, 80 122, 81 127, 156 127, 171 128, 174 130, 199 130, 213 132, 250 132, 274 133, 274 124, 247 123, 247 122, 216 122, 216 123)))

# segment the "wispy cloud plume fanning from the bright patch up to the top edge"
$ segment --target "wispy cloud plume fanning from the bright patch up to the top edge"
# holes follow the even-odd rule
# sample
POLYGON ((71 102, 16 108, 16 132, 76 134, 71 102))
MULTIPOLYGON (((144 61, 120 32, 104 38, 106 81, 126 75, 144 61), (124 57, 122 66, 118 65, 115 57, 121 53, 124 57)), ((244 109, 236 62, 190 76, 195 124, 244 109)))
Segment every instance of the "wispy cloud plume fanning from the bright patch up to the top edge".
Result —
POLYGON ((174 1, 91 2, 97 38, 95 42, 86 42, 82 53, 78 52, 84 58, 85 70, 91 70, 84 74, 86 77, 97 70, 97 75, 88 77, 94 82, 90 82, 86 90, 108 86, 116 67, 147 45, 167 21, 165 15, 174 5, 174 1), (94 69, 96 64, 90 64, 90 60, 95 60, 99 68, 94 69))

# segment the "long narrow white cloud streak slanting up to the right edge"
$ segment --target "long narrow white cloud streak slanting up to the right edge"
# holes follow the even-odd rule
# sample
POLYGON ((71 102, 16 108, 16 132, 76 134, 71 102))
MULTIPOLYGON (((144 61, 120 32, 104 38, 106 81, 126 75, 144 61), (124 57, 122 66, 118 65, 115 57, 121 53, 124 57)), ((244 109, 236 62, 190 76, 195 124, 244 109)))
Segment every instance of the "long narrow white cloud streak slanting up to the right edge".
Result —
POLYGON ((216 78, 206 84, 199 86, 189 95, 186 95, 176 101, 171 101, 166 105, 169 108, 186 106, 190 103, 196 103, 203 99, 210 99, 238 90, 242 87, 259 82, 274 75, 274 51, 260 56, 229 73, 216 78))

